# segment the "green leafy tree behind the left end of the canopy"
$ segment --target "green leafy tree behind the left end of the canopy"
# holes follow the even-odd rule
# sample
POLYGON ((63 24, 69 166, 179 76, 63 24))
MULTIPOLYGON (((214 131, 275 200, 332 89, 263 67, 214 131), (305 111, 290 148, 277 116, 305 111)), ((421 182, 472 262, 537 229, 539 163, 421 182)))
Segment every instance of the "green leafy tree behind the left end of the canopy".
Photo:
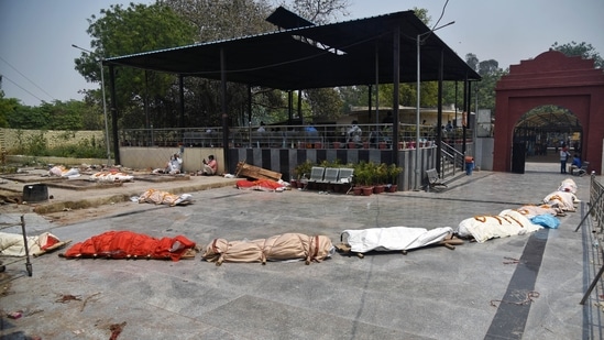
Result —
MULTIPOLYGON (((100 80, 99 59, 187 45, 195 37, 195 26, 161 3, 130 3, 128 8, 111 6, 101 10, 99 18, 92 15, 88 19, 88 23, 87 33, 92 37, 90 47, 94 53, 83 52, 75 63, 76 70, 89 81, 100 80)), ((108 68, 103 69, 107 73, 108 68)), ((109 79, 109 74, 105 77, 109 79)), ((135 128, 152 123, 161 127, 162 122, 168 121, 166 116, 173 116, 172 110, 161 108, 175 83, 175 75, 119 68, 116 73, 116 87, 119 89, 116 100, 122 120, 135 128)))

